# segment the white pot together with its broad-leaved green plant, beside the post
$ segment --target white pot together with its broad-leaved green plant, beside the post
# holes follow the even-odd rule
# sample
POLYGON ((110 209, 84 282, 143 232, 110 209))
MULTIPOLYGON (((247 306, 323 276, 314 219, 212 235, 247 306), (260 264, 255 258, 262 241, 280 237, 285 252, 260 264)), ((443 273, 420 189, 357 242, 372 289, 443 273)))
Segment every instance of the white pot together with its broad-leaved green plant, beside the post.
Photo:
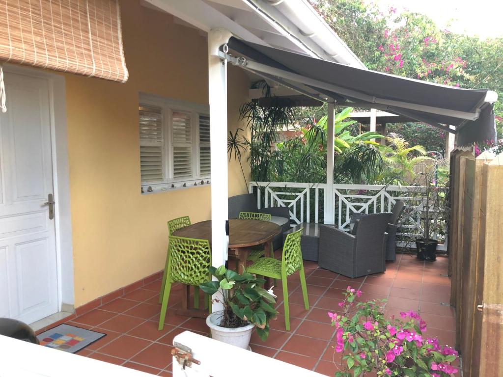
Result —
POLYGON ((215 300, 223 304, 222 311, 206 318, 211 337, 249 349, 251 332, 257 328, 260 338, 266 340, 269 320, 278 314, 274 309, 276 296, 272 289, 267 291, 261 287, 266 280, 246 272, 239 274, 225 266, 212 266, 210 272, 217 280, 205 282, 199 287, 208 295, 219 292, 215 300))

